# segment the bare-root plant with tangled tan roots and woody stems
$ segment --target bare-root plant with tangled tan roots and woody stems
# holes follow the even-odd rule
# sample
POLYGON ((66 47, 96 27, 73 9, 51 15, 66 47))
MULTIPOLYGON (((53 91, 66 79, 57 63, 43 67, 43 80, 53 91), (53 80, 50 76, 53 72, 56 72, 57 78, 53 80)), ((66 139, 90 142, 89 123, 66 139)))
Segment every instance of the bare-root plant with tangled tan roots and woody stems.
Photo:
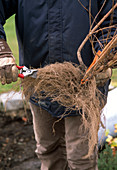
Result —
MULTIPOLYGON (((105 3, 106 0, 99 13, 103 9, 105 3)), ((62 113, 61 118, 63 118, 66 113, 70 114, 71 111, 81 115, 83 122, 80 128, 81 133, 87 132, 87 136, 85 136, 83 140, 89 141, 89 151, 86 157, 91 156, 94 147, 97 144, 98 129, 99 124, 101 123, 100 114, 106 100, 106 97, 101 94, 96 86, 95 74, 98 74, 102 70, 106 70, 117 61, 117 55, 115 55, 115 50, 113 50, 117 47, 117 30, 115 29, 115 34, 112 37, 110 34, 111 28, 116 27, 116 25, 112 24, 112 14, 117 8, 117 3, 112 4, 112 9, 110 9, 95 27, 93 27, 93 24, 96 22, 99 13, 93 19, 93 23, 91 23, 90 19, 91 27, 89 34, 77 51, 80 65, 70 62, 50 64, 37 69, 36 79, 27 77, 22 82, 23 93, 27 99, 34 93, 36 93, 39 100, 49 97, 51 102, 57 102, 66 108, 65 112, 62 113), (111 24, 106 28, 101 28, 101 24, 110 15, 111 24), (105 44, 97 37, 97 34, 99 32, 103 33, 104 29, 108 32, 107 41, 105 41, 105 39, 103 40, 106 42, 105 44), (91 68, 91 71, 89 70, 87 72, 87 67, 83 63, 81 57, 81 50, 88 40, 91 42, 94 54, 96 53, 94 50, 95 41, 99 42, 99 45, 101 44, 102 53, 95 65, 91 68), (112 52, 112 55, 110 55, 110 52, 112 52), (84 80, 84 83, 81 83, 82 79, 84 80), (86 81, 86 79, 88 79, 88 81, 86 81)), ((91 18, 91 10, 89 9, 88 11, 89 18, 91 18)))

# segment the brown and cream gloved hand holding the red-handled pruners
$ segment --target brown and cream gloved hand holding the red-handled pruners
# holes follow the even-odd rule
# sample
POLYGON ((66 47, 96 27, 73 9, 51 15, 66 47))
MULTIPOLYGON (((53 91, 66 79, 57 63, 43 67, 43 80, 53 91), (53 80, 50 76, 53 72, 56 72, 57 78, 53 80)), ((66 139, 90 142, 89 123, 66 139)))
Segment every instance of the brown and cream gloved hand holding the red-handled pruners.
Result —
POLYGON ((0 81, 2 85, 17 81, 15 58, 5 40, 0 39, 0 81))

